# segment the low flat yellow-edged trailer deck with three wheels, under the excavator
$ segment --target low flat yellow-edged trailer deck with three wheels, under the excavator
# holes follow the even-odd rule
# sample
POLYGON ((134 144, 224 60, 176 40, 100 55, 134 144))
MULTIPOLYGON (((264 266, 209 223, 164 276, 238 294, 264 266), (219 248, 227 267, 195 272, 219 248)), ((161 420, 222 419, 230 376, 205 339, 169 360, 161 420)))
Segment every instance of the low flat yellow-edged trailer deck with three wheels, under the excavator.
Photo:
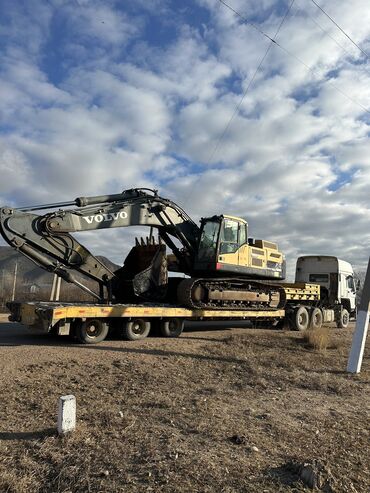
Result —
POLYGON ((110 329, 118 329, 124 339, 147 337, 159 328, 164 337, 179 337, 185 320, 256 320, 278 323, 284 310, 202 310, 170 305, 95 305, 57 302, 13 302, 9 320, 31 330, 74 334, 85 344, 103 341, 110 329))

